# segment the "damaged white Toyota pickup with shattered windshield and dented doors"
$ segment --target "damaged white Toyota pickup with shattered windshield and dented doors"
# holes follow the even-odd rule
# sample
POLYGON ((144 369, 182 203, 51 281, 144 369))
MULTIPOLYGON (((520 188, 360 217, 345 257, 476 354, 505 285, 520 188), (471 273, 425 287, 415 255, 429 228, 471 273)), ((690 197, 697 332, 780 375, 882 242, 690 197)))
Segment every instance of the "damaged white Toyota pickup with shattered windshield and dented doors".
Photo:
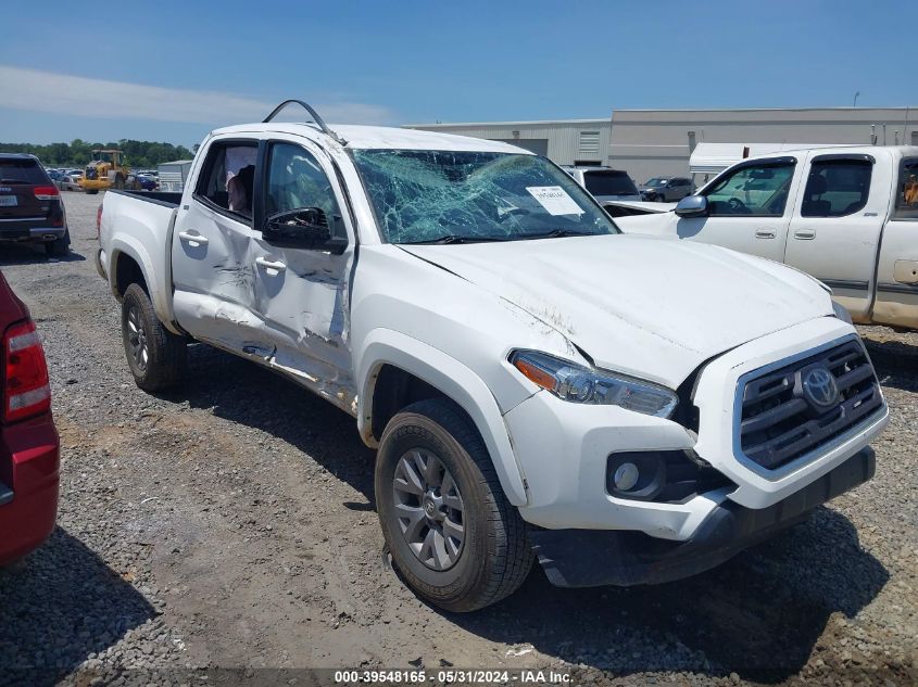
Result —
POLYGON ((872 475, 886 405, 813 278, 624 236, 512 145, 310 112, 212 132, 180 195, 109 191, 98 268, 141 389, 197 340, 356 419, 419 596, 481 608, 533 554, 676 580, 872 475))

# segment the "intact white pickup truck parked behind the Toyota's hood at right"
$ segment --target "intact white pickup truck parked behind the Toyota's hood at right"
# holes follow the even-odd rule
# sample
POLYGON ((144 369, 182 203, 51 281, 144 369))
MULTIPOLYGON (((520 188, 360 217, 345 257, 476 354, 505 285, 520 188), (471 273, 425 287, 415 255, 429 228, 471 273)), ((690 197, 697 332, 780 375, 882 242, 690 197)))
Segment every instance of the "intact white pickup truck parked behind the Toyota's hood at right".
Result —
POLYGON ((672 212, 616 222, 629 233, 714 243, 791 265, 828 284, 855 322, 918 329, 918 148, 752 157, 672 212))

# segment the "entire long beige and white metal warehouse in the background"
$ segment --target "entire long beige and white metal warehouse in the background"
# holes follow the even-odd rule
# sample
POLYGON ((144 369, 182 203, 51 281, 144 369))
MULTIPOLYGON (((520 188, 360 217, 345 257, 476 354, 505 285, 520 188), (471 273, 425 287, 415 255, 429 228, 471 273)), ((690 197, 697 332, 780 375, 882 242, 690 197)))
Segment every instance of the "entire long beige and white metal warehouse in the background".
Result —
MULTIPOLYGON (((700 143, 719 157, 721 168, 741 158, 745 149, 753 155, 813 145, 918 145, 918 106, 616 110, 608 119, 408 126, 506 141, 562 165, 603 164, 625 169, 638 182, 689 176, 690 156, 700 143)), ((714 169, 695 171, 695 180, 703 181, 714 169)))

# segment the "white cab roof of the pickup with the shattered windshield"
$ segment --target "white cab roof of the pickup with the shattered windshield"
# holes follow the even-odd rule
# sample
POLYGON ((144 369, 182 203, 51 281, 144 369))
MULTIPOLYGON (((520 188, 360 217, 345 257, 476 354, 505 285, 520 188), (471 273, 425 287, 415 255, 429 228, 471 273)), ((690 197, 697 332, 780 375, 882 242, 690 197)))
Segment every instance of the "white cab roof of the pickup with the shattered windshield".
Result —
MULTIPOLYGON (((439 131, 420 131, 417 129, 353 124, 331 124, 329 128, 348 142, 348 148, 357 150, 442 150, 532 154, 530 151, 508 143, 501 143, 500 141, 456 136, 454 133, 441 133, 439 131)), ((216 129, 213 133, 216 136, 226 133, 261 133, 265 131, 303 136, 320 143, 334 141, 331 137, 324 133, 312 123, 291 124, 269 122, 267 124, 240 124, 216 129)), ((337 141, 335 141, 335 144, 338 144, 337 141)))

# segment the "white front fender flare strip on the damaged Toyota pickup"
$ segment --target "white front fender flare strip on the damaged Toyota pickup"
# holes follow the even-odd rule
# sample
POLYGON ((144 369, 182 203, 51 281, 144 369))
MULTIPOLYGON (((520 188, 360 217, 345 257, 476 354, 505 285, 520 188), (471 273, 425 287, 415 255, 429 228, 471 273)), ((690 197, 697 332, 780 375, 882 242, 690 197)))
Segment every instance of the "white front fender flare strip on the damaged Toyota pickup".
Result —
POLYGON ((485 441, 507 499, 514 506, 527 504, 523 470, 498 402, 473 370, 439 348, 391 329, 373 330, 355 357, 356 379, 361 380, 357 427, 364 441, 370 441, 376 379, 383 365, 392 365, 438 389, 468 414, 485 441))

